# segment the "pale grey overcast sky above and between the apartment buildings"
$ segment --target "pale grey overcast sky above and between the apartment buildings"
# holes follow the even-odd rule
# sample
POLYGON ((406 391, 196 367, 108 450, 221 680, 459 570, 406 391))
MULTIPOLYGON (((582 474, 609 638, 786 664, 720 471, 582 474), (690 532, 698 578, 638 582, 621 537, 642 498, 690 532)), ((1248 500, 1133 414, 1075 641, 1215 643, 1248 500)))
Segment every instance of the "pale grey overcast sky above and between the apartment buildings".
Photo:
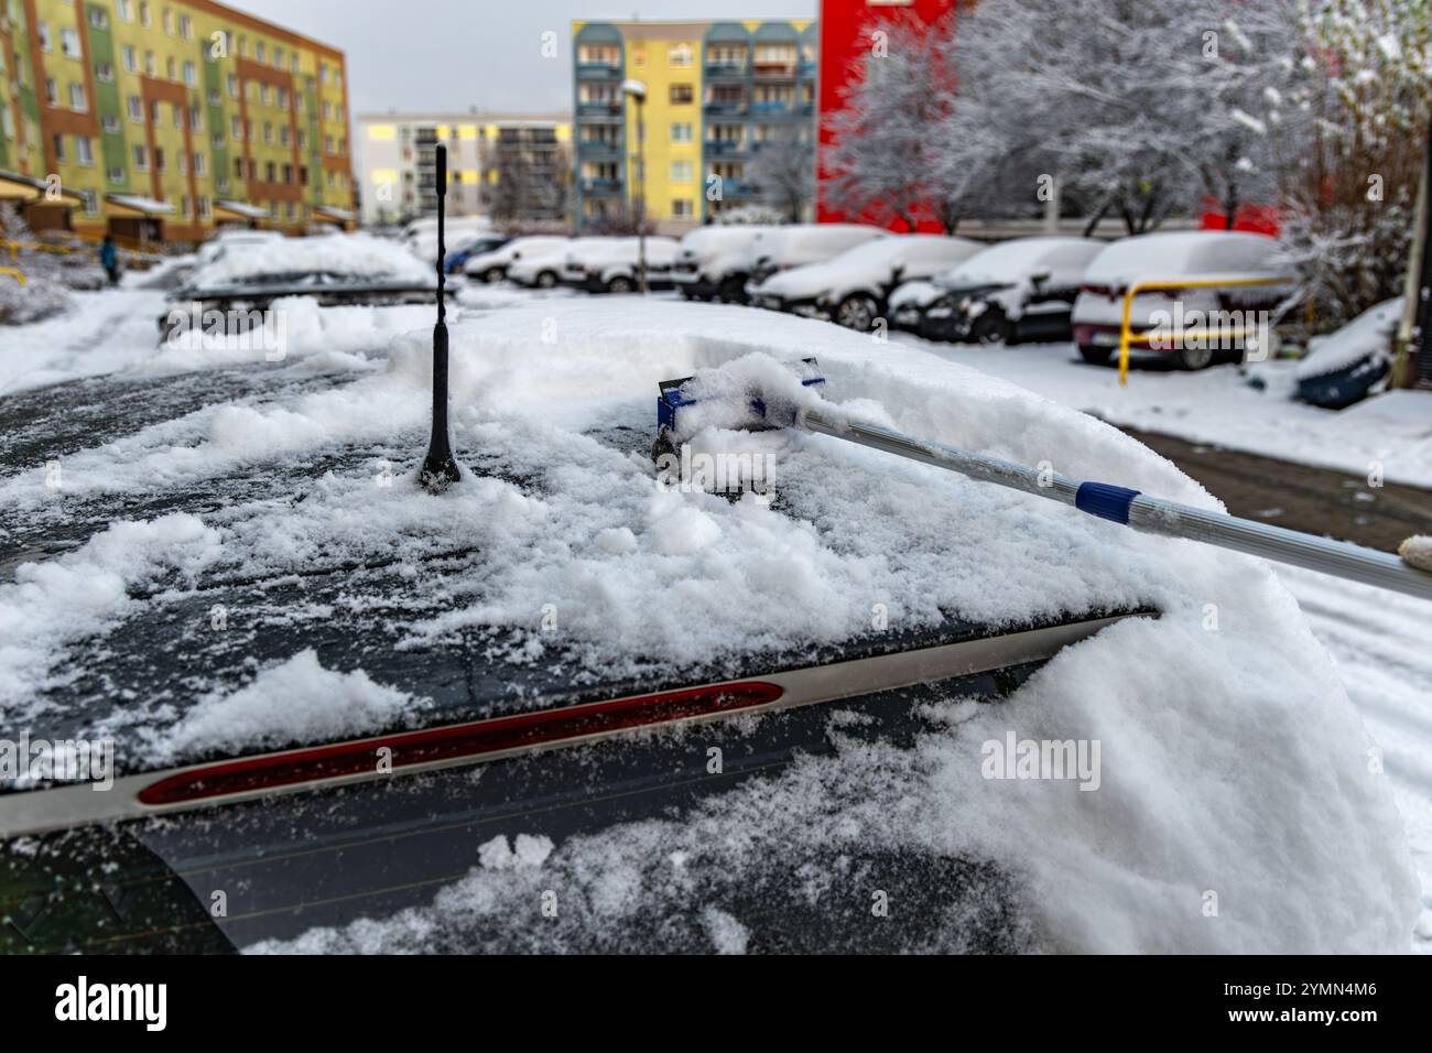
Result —
POLYGON ((354 113, 571 105, 573 19, 813 19, 819 0, 232 0, 342 50, 354 113), (560 42, 541 57, 543 33, 560 42))

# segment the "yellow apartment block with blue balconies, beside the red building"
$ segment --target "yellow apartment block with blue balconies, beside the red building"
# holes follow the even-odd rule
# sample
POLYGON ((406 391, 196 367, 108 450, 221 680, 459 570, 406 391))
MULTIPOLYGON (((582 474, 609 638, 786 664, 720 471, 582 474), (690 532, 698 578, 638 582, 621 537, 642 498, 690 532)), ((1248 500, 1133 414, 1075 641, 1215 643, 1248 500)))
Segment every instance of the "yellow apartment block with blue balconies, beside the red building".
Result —
POLYGON ((581 226, 644 208, 680 234, 758 199, 763 145, 812 142, 813 21, 576 21, 571 36, 581 226), (627 80, 644 89, 640 107, 627 80))

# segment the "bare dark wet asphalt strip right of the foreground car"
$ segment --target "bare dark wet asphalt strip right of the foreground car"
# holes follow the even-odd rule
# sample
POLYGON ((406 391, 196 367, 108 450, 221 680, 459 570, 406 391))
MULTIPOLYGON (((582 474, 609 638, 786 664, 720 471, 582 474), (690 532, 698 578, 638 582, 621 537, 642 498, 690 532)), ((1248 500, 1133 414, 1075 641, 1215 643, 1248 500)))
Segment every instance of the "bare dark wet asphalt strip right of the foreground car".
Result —
POLYGON ((1124 428, 1220 499, 1233 516, 1289 530, 1396 552, 1411 534, 1432 533, 1432 490, 1279 461, 1189 443, 1154 431, 1124 428))

